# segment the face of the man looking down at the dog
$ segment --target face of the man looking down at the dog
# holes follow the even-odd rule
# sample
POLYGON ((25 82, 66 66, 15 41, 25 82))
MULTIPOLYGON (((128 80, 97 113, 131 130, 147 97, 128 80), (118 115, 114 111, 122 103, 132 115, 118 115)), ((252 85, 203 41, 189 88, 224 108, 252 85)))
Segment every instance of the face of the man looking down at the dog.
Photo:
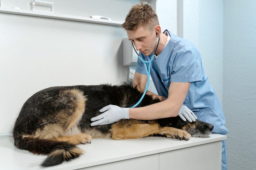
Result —
POLYGON ((139 50, 146 56, 154 52, 157 43, 155 31, 149 31, 144 27, 140 27, 137 30, 126 31, 126 33, 128 39, 132 41, 137 51, 139 50))

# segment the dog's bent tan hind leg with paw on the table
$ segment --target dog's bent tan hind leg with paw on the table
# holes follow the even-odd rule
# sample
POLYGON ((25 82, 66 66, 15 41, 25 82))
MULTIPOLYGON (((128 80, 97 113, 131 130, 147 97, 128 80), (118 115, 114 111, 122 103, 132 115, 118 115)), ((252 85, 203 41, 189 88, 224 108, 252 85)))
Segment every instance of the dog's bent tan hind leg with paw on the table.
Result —
POLYGON ((86 98, 78 89, 61 90, 52 106, 56 111, 51 116, 52 123, 46 123, 42 129, 37 129, 34 137, 51 139, 69 144, 91 143, 92 137, 81 133, 79 122, 84 114, 86 98))

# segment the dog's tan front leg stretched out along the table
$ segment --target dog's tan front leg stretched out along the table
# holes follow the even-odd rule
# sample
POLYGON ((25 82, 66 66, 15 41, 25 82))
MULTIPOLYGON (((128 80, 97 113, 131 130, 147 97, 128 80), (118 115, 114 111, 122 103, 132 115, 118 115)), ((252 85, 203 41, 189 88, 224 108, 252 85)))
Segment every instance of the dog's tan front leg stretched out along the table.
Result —
POLYGON ((113 139, 136 139, 154 134, 165 135, 167 138, 188 140, 191 135, 181 129, 160 127, 158 123, 127 123, 117 122, 110 130, 113 139))

